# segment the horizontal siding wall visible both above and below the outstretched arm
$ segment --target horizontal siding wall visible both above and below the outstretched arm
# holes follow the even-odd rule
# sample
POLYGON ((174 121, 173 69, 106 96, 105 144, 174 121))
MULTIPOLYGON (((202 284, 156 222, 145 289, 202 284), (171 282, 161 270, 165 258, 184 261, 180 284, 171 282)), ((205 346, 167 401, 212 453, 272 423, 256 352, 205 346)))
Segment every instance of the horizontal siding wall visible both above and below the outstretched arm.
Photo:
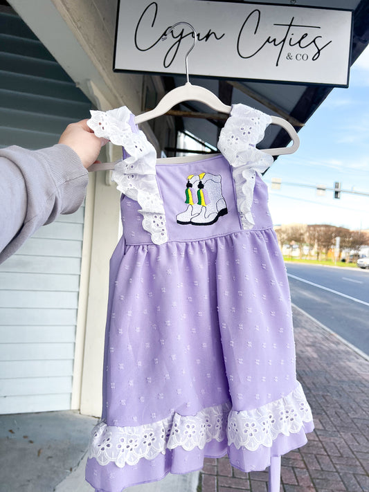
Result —
MULTIPOLYGON (((54 145, 91 102, 22 19, 0 11, 0 147, 54 145)), ((0 413, 71 408, 84 208, 0 265, 0 413)))

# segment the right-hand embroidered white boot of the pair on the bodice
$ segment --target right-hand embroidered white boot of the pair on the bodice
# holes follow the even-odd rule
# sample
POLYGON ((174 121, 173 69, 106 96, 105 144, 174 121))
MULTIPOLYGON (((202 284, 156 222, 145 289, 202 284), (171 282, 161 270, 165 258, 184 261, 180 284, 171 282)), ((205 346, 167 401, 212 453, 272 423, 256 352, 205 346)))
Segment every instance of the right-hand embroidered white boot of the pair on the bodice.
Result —
POLYGON ((203 172, 199 174, 197 184, 197 203, 200 213, 191 219, 194 226, 210 226, 219 217, 228 213, 226 201, 222 194, 222 176, 203 172))

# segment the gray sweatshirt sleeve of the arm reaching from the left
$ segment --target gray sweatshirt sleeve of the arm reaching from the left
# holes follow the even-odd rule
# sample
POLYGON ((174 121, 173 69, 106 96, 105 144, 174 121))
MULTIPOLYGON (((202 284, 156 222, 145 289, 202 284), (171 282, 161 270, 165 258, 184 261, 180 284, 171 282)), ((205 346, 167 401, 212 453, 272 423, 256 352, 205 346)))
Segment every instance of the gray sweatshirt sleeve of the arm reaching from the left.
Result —
POLYGON ((0 263, 44 224, 78 210, 88 172, 67 145, 0 149, 0 263))

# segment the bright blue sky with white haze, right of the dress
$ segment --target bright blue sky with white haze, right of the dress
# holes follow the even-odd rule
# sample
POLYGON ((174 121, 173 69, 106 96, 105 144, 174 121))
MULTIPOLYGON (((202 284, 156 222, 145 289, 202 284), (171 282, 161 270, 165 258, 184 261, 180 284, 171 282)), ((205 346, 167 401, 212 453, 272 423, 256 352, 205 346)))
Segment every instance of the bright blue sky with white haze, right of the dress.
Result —
POLYGON ((369 229, 369 197, 332 191, 319 197, 313 188, 287 183, 333 187, 369 193, 369 49, 350 72, 348 89, 335 88, 298 133, 295 154, 280 156, 265 174, 274 224, 332 224, 369 229), (271 179, 282 180, 271 190, 271 179))

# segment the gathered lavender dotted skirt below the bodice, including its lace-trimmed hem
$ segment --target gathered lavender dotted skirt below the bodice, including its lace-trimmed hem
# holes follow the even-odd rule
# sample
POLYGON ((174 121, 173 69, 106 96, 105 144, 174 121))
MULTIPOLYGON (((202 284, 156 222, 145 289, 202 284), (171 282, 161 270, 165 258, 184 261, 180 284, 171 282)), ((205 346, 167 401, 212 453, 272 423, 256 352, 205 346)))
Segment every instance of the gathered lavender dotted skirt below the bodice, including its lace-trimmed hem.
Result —
POLYGON ((289 286, 272 228, 127 245, 111 259, 103 414, 87 480, 100 492, 228 453, 264 470, 306 442, 289 286))

